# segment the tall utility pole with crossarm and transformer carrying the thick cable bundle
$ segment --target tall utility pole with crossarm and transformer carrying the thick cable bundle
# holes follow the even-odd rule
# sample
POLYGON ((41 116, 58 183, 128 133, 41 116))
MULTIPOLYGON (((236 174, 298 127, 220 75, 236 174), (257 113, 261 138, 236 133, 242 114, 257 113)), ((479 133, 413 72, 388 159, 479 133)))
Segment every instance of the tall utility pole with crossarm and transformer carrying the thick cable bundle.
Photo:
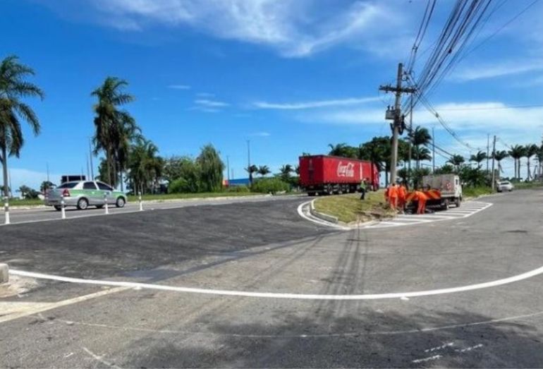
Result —
POLYGON ((390 158, 390 183, 396 182, 396 167, 398 166, 398 135, 400 135, 400 129, 403 131, 405 128, 405 123, 403 122, 403 116, 401 115, 401 94, 402 93, 413 93, 415 92, 414 88, 403 88, 402 87, 402 76, 403 76, 403 64, 398 63, 398 75, 396 77, 396 87, 391 85, 379 86, 379 90, 385 92, 395 92, 396 93, 396 102, 394 102, 394 109, 386 110, 385 119, 392 120, 392 155, 390 158))

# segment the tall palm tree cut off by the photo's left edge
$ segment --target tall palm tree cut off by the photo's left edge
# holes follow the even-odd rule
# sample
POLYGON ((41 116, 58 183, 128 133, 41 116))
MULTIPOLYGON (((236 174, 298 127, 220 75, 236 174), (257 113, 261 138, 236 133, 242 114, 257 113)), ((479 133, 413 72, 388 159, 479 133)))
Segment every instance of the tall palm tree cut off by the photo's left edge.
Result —
POLYGON ((17 56, 8 56, 0 63, 0 162, 4 170, 4 196, 9 196, 8 156, 19 157, 23 147, 20 120, 27 121, 35 135, 39 134, 39 120, 28 104, 27 97, 44 98, 43 91, 25 80, 34 75, 29 66, 19 63, 17 56))

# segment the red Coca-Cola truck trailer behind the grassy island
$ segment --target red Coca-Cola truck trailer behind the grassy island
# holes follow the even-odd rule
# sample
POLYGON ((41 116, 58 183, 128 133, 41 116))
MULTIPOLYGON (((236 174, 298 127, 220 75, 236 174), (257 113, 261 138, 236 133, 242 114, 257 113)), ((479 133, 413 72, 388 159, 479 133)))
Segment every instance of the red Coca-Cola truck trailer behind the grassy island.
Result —
POLYGON ((379 171, 372 162, 327 155, 300 157, 300 186, 308 195, 353 193, 362 179, 367 179, 368 188, 379 188, 379 171))

